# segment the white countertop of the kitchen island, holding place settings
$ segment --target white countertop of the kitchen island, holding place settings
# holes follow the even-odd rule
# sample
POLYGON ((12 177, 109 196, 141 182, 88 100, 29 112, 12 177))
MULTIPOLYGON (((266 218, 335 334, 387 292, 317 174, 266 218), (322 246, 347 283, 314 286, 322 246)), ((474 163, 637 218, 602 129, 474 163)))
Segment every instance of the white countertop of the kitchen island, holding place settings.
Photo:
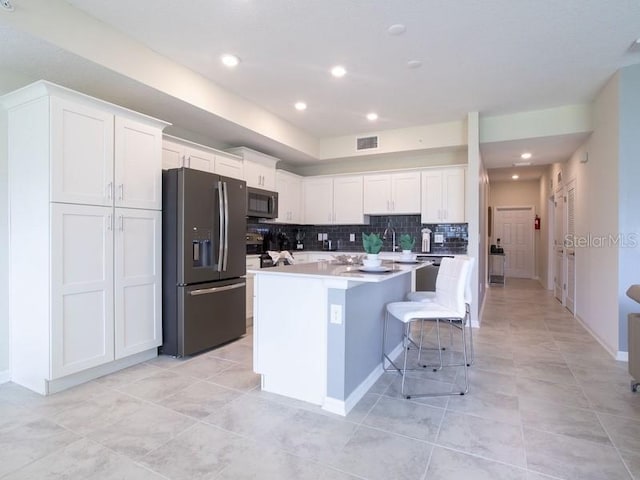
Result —
POLYGON ((362 265, 340 265, 335 262, 312 262, 295 265, 283 265, 273 268, 248 269, 247 273, 257 275, 284 275, 324 279, 347 279, 358 282, 383 282, 385 280, 410 273, 413 270, 430 265, 430 262, 398 263, 392 261, 382 262, 382 266, 389 269, 387 272, 365 272, 360 269, 362 265))

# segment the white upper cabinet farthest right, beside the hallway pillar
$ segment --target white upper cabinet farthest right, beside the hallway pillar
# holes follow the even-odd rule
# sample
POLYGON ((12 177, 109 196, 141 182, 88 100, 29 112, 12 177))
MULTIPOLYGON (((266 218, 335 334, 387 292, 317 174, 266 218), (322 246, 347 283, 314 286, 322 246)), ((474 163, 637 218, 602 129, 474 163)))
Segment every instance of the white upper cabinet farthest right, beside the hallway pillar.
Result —
POLYGON ((422 171, 422 223, 464 223, 465 167, 422 171))

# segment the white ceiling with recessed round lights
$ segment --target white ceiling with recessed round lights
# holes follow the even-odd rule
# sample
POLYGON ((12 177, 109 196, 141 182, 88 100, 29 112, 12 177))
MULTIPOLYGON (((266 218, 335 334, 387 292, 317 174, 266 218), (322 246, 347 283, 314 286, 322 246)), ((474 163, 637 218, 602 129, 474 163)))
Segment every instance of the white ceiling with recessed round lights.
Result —
MULTIPOLYGON (((20 1, 12 0, 16 8, 20 1)), ((640 62, 640 52, 629 50, 640 36, 637 0, 67 2, 317 138, 460 120, 470 111, 482 116, 586 103, 618 68, 640 62), (397 23, 406 33, 389 35, 397 23), (238 68, 220 64, 225 52, 242 59, 238 68), (421 68, 407 68, 414 59, 421 68), (342 79, 329 74, 338 63, 348 71, 342 79), (305 112, 293 108, 297 100, 307 102, 305 112), (364 118, 369 111, 380 115, 376 124, 364 118)), ((204 120, 220 144, 251 134, 203 112, 185 120, 182 107, 157 92, 3 28, 2 15, 8 14, 0 12, 3 68, 82 91, 101 88, 106 99, 142 104, 140 110, 178 128, 204 120), (180 111, 182 121, 165 111, 169 117, 180 111)), ((583 140, 538 146, 551 148, 545 158, 556 161, 583 140)), ((504 143, 483 146, 489 166, 527 148, 504 143)))

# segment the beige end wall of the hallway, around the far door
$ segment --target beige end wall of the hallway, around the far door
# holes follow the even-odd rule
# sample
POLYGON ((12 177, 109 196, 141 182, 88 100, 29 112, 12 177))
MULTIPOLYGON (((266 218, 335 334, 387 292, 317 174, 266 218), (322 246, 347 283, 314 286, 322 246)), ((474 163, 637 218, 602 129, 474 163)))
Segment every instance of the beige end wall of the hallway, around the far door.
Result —
MULTIPOLYGON (((540 181, 513 180, 508 182, 492 182, 489 185, 489 205, 494 212, 496 207, 533 207, 534 213, 540 215, 540 181)), ((495 215, 494 215, 495 218, 495 215)), ((533 225, 531 226, 533 228, 533 225)), ((494 230, 494 229, 492 229, 494 230)), ((541 234, 542 230, 535 230, 534 241, 534 268, 536 277, 540 277, 540 262, 542 261, 542 243, 546 241, 541 234)), ((490 243, 495 243, 494 238, 489 237, 490 243)))

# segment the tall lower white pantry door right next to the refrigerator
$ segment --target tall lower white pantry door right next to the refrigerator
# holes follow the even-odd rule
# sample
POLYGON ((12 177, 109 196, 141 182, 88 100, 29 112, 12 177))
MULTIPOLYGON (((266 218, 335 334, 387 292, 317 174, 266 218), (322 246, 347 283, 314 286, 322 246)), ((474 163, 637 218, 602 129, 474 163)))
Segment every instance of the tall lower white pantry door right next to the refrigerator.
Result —
POLYGON ((115 358, 162 344, 161 215, 115 209, 115 358))

